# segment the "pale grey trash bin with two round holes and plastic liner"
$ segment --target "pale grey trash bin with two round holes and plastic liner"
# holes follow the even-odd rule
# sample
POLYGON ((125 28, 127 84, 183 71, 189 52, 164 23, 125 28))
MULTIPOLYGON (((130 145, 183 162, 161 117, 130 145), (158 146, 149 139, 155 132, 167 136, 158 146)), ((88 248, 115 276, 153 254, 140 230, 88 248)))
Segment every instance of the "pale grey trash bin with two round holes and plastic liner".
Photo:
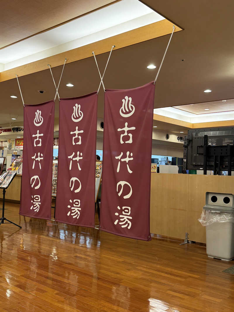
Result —
POLYGON ((232 194, 206 193, 201 218, 206 227, 206 250, 210 258, 234 259, 234 200, 232 194))

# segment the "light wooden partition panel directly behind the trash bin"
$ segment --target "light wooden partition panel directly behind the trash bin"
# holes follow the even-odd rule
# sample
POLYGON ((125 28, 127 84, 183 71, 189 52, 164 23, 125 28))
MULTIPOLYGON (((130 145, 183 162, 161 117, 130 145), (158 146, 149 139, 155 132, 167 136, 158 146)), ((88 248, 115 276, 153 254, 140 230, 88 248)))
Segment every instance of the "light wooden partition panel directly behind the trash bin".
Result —
POLYGON ((206 228, 197 219, 205 205, 206 192, 234 192, 234 177, 218 175, 188 175, 188 234, 191 241, 206 242, 206 228))

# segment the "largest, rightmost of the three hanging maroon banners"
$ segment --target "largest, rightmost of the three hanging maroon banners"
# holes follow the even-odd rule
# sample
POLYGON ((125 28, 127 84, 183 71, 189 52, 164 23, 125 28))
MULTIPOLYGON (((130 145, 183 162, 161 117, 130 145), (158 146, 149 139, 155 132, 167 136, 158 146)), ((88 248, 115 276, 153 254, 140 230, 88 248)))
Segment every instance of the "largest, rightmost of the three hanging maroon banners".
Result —
POLYGON ((155 85, 106 90, 100 229, 151 240, 149 231, 155 85))

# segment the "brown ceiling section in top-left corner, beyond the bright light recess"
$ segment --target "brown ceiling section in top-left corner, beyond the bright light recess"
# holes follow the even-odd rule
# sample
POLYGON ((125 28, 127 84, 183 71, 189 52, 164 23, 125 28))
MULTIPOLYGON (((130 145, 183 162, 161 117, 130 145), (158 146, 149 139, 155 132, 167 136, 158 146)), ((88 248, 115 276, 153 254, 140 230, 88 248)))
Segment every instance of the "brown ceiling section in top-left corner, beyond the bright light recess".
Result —
POLYGON ((0 0, 0 48, 117 1, 0 0))

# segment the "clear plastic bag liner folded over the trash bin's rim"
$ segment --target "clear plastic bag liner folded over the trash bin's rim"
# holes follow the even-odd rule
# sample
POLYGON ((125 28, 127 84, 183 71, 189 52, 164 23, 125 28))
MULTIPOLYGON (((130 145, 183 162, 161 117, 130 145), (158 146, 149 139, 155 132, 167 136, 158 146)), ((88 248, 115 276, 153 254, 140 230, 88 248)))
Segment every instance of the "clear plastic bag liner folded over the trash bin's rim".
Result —
POLYGON ((203 210, 198 221, 203 227, 206 227, 214 222, 234 222, 234 212, 203 210))

